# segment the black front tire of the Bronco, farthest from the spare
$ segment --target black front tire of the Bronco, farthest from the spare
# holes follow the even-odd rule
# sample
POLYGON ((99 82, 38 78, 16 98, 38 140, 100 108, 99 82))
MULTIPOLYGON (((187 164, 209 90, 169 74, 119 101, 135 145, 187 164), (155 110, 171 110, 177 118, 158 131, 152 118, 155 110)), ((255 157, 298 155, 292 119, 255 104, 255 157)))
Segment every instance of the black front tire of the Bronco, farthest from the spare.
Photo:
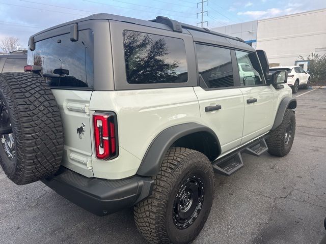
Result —
MULTIPOLYGON (((289 133, 289 132, 288 132, 289 133)), ((268 153, 274 156, 283 157, 291 150, 295 135, 295 115, 292 109, 285 111, 281 125, 269 132, 269 138, 266 139, 268 153), (290 138, 285 141, 289 123, 292 125, 290 138), (286 142, 288 142, 286 144, 286 142)))

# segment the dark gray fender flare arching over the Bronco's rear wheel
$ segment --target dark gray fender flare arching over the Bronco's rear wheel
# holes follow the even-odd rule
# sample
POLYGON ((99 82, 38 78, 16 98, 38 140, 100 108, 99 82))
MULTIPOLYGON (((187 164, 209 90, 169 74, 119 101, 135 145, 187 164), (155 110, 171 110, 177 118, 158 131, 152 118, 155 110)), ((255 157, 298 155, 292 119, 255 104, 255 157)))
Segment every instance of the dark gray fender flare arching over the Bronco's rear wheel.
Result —
POLYGON ((205 132, 211 134, 218 144, 221 153, 221 144, 214 131, 207 126, 197 123, 185 123, 169 127, 161 131, 151 142, 146 154, 138 168, 137 174, 142 176, 154 176, 158 173, 161 162, 172 144, 183 136, 205 132))

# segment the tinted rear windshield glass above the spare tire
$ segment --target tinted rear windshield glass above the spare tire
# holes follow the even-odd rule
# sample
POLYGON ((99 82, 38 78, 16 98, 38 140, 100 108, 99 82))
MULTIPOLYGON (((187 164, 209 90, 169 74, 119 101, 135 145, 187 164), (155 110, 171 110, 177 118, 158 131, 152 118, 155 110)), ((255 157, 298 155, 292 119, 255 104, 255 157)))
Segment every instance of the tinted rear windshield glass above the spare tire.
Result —
POLYGON ((76 42, 70 34, 39 41, 29 51, 28 64, 41 66, 50 86, 93 87, 93 33, 79 31, 76 42))

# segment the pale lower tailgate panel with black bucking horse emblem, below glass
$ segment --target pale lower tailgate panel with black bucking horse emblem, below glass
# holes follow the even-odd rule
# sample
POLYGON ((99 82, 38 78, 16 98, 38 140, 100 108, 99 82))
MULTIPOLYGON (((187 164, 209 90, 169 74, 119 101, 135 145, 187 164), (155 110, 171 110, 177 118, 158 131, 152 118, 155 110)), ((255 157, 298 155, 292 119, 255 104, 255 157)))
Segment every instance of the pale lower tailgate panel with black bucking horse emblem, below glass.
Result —
POLYGON ((93 177, 92 142, 89 104, 92 92, 88 90, 52 89, 56 97, 64 129, 62 165, 93 177))

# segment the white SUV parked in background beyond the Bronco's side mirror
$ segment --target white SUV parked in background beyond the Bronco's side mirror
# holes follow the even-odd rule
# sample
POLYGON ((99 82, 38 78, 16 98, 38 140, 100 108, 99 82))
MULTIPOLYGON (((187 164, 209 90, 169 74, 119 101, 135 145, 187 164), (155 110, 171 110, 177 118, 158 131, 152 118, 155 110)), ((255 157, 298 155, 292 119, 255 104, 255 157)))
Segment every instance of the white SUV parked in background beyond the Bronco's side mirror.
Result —
POLYGON ((292 88, 292 93, 297 93, 300 87, 308 89, 310 86, 310 75, 300 66, 277 66, 269 69, 273 74, 277 70, 287 70, 287 84, 292 88))

